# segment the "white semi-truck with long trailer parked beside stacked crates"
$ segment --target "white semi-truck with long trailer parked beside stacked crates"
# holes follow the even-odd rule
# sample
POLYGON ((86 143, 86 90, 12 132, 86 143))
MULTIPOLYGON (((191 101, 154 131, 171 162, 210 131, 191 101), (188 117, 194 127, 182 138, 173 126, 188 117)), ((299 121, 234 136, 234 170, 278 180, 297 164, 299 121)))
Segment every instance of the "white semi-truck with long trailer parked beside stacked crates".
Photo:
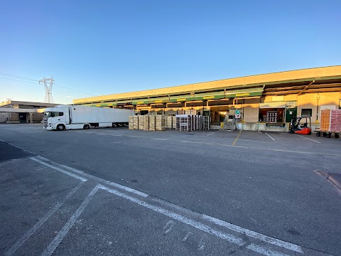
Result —
POLYGON ((43 128, 63 131, 90 127, 123 127, 128 126, 129 116, 134 114, 134 110, 59 105, 44 110, 43 128))

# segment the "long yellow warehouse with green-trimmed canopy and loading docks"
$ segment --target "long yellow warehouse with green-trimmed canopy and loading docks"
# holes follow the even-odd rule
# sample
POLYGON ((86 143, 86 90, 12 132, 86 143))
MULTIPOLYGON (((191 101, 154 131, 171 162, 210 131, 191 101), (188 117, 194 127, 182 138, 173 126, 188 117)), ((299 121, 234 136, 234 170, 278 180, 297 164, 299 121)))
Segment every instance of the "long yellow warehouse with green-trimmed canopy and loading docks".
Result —
POLYGON ((264 75, 251 75, 155 90, 73 100, 75 105, 121 107, 138 114, 174 115, 196 110, 220 128, 227 116, 240 112, 239 128, 287 131, 296 116, 320 122, 320 110, 341 107, 341 65, 264 75))

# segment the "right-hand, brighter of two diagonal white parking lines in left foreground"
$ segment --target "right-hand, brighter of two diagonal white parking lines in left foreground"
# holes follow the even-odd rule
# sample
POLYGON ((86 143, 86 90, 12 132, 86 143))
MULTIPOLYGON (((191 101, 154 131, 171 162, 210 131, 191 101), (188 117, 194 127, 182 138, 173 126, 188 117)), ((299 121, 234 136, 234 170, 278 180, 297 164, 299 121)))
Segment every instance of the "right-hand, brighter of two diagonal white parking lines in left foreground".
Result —
POLYGON ((70 228, 75 224, 76 220, 80 215, 82 214, 85 207, 87 207, 88 203, 94 196, 94 194, 98 191, 99 186, 95 186, 94 189, 91 191, 91 193, 85 198, 85 201, 82 202, 80 207, 76 210, 75 213, 71 216, 71 218, 67 221, 67 223, 64 225, 64 227, 59 231, 59 233, 53 238, 52 242, 50 242, 50 245, 46 247, 44 252, 41 254, 41 256, 50 256, 55 251, 55 248, 58 247, 60 242, 65 238, 65 235, 69 232, 70 228))

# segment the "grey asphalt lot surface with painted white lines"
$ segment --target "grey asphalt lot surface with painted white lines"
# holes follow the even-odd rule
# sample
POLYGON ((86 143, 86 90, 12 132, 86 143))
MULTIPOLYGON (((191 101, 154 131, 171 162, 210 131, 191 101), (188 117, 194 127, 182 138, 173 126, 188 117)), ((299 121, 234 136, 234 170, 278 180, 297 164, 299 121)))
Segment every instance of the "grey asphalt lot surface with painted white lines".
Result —
POLYGON ((341 255, 341 139, 0 124, 0 140, 2 255, 341 255))

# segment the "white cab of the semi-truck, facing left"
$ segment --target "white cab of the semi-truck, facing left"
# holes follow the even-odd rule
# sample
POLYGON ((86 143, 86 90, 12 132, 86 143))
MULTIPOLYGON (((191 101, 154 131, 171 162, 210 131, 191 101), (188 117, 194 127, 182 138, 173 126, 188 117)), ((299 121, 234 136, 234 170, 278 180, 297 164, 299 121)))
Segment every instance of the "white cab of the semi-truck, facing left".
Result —
POLYGON ((44 110, 43 128, 48 130, 64 130, 69 124, 68 106, 51 107, 44 110))

